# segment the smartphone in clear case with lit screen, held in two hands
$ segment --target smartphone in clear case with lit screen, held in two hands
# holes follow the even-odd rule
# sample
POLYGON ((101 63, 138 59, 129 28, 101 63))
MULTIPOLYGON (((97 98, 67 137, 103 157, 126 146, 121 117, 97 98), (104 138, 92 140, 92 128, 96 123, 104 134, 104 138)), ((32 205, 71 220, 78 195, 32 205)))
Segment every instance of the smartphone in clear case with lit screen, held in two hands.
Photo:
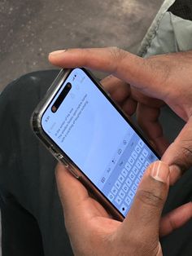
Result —
POLYGON ((61 70, 34 110, 32 127, 46 148, 119 220, 129 213, 147 166, 159 160, 85 68, 61 70))

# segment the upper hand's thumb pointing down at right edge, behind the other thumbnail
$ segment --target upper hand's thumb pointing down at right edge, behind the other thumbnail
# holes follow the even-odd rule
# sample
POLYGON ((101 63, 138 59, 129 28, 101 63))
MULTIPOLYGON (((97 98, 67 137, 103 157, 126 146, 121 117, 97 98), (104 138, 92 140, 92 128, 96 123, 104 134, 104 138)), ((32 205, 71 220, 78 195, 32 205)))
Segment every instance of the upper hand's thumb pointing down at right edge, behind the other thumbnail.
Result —
POLYGON ((181 177, 192 165, 192 117, 185 124, 177 139, 168 147, 162 160, 170 166, 170 184, 181 177))

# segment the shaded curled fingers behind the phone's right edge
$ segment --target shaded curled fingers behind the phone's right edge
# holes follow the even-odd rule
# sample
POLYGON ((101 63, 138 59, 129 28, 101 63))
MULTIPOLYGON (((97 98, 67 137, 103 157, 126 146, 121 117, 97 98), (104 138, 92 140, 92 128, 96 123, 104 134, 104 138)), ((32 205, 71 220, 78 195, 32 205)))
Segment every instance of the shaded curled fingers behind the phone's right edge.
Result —
POLYGON ((105 77, 101 84, 124 113, 129 117, 137 113, 137 124, 141 126, 155 151, 162 156, 169 145, 159 123, 160 108, 164 106, 164 102, 143 95, 127 82, 112 75, 105 77))

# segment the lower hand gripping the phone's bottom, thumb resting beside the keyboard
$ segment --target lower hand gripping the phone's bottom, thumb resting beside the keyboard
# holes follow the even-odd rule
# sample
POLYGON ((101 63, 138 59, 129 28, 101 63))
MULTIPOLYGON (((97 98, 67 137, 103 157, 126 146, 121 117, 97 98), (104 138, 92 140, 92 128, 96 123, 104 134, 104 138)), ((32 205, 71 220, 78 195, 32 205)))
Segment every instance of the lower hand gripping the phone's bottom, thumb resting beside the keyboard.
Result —
POLYGON ((146 170, 122 223, 112 219, 62 164, 57 166, 56 179, 75 255, 159 256, 159 235, 167 235, 191 217, 189 203, 161 218, 169 184, 168 165, 162 161, 146 170))

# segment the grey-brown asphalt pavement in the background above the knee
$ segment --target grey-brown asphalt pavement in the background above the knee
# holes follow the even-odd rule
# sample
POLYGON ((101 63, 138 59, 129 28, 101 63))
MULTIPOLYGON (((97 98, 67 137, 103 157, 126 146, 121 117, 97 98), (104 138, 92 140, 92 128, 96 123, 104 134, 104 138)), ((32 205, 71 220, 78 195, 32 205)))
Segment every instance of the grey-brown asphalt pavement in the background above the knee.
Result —
POLYGON ((1 0, 0 91, 24 73, 52 68, 47 55, 70 47, 136 52, 163 0, 1 0))

